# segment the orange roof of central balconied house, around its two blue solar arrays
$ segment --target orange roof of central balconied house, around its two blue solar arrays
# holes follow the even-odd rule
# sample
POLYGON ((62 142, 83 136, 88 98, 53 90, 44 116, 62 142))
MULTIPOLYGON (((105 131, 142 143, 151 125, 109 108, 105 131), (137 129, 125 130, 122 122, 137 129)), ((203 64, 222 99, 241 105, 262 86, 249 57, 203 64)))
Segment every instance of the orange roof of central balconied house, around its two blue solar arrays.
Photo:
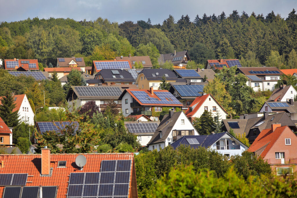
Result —
MULTIPOLYGON (((180 106, 183 106, 169 91, 167 91, 167 90, 154 90, 154 94, 152 95, 151 93, 150 93, 150 91, 149 90, 147 90, 147 89, 125 89, 124 91, 123 91, 123 93, 121 94, 121 96, 119 97, 119 100, 121 100, 122 99, 122 97, 126 94, 126 93, 129 93, 140 105, 143 105, 143 106, 151 106, 151 105, 153 105, 153 106, 166 106, 166 107, 173 107, 173 106, 178 106, 178 107, 180 107, 180 106), (148 95, 148 97, 150 97, 150 98, 154 98, 154 100, 151 100, 151 99, 149 99, 149 101, 151 100, 152 102, 151 103, 143 103, 143 102, 140 102, 140 100, 139 100, 139 96, 137 97, 137 96, 135 96, 133 93, 132 93, 132 91, 138 91, 138 92, 140 92, 141 91, 141 93, 145 93, 145 94, 147 94, 148 95), (164 100, 165 98, 163 98, 163 100, 162 100, 162 97, 159 97, 159 96, 157 96, 158 94, 156 94, 156 93, 166 93, 166 94, 168 94, 166 97, 170 97, 171 98, 171 100, 172 101, 169 101, 169 100, 164 100), (163 101, 162 103, 161 102, 159 102, 159 103, 156 103, 156 102, 153 102, 153 101, 163 101), (170 102, 174 102, 175 104, 172 104, 172 103, 170 103, 170 102)), ((141 94, 140 93, 140 94, 141 94)), ((141 96, 140 96, 141 97, 141 96)), ((147 96, 146 96, 147 97, 147 96)), ((147 100, 146 100, 147 101, 147 100)))

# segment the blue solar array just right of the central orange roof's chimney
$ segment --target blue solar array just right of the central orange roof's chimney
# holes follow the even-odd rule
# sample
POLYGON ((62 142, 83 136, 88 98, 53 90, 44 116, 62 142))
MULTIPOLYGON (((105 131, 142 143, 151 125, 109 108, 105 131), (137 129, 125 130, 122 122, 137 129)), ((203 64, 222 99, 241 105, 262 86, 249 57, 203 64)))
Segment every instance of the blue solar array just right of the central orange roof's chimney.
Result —
POLYGON ((205 85, 172 85, 182 97, 201 96, 205 85))

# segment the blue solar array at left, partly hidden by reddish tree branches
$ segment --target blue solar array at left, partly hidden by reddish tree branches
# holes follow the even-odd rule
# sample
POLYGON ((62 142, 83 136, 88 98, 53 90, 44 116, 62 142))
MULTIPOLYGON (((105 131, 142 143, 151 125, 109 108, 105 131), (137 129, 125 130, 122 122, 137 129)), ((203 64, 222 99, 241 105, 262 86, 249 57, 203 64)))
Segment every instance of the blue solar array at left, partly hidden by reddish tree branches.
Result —
MULTIPOLYGON (((72 129, 74 129, 74 132, 78 130, 78 122, 37 122, 38 128, 40 129, 41 134, 47 132, 47 131, 61 131, 66 128, 66 126, 71 126, 72 129)), ((58 132, 57 132, 58 133, 58 132)))

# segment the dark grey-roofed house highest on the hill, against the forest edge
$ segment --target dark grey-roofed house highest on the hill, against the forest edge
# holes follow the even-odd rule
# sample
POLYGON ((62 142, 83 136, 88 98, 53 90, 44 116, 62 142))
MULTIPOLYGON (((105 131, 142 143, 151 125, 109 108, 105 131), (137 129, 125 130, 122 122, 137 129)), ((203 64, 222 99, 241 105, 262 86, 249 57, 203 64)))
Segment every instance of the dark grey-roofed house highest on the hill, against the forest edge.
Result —
POLYGON ((191 58, 187 51, 176 52, 169 54, 160 54, 158 62, 162 66, 166 61, 172 62, 174 69, 187 69, 188 61, 191 61, 191 58))

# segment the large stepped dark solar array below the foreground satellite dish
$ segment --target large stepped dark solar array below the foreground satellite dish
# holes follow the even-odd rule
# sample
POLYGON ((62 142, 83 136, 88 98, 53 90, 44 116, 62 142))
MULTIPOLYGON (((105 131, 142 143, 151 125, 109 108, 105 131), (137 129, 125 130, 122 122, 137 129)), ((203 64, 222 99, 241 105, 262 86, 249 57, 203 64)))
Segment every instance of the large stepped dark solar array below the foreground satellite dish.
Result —
POLYGON ((67 198, 128 198, 131 160, 102 160, 100 169, 100 172, 70 173, 67 198))

